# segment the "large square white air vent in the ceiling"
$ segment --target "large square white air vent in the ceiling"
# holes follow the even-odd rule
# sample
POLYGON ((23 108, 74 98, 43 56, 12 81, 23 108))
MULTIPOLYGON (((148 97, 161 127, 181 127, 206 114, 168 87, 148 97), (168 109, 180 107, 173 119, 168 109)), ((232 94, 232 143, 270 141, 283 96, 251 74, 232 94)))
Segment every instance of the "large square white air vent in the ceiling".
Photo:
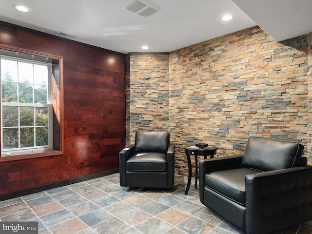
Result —
POLYGON ((125 7, 126 10, 131 11, 141 17, 148 17, 160 10, 160 7, 148 0, 135 0, 125 7))

